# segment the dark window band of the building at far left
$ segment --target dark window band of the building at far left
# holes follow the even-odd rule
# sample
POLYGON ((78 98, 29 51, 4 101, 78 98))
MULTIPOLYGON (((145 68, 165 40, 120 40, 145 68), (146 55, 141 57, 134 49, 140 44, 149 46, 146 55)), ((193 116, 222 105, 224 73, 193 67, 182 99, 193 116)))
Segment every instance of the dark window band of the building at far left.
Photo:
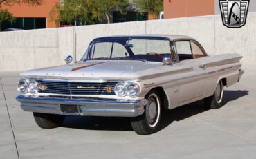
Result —
POLYGON ((7 28, 20 28, 24 30, 46 28, 46 18, 19 17, 12 23, 3 21, 1 24, 1 30, 6 30, 7 28))

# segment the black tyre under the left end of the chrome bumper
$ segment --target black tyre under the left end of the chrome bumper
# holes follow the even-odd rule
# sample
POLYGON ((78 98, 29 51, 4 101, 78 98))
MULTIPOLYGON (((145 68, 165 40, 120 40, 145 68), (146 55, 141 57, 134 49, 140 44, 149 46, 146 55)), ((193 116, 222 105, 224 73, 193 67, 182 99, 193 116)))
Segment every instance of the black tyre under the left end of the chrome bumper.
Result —
POLYGON ((51 129, 60 127, 65 120, 64 115, 46 114, 46 113, 33 113, 35 122, 43 129, 51 129))

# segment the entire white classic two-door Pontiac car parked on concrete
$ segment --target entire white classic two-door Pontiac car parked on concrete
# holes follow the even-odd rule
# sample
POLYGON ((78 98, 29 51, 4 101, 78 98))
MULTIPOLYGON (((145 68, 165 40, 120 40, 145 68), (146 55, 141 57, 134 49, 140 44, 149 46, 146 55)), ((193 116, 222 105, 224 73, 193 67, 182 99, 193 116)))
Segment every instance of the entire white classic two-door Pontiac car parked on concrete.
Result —
POLYGON ((138 134, 158 130, 161 115, 197 100, 217 109, 223 86, 239 82, 237 54, 209 57, 198 41, 181 35, 100 37, 79 62, 22 73, 17 97, 44 129, 66 115, 130 117, 138 134))

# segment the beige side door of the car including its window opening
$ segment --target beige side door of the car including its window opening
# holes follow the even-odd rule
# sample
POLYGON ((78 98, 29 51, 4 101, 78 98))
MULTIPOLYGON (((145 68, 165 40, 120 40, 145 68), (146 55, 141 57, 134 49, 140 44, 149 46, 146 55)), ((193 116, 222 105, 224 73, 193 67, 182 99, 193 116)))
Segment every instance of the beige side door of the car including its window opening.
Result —
MULTIPOLYGON (((205 92, 205 70, 201 68, 201 60, 196 59, 193 51, 196 47, 190 41, 176 41, 174 44, 180 64, 189 66, 190 71, 180 73, 179 102, 186 104, 201 97, 205 92)), ((199 56, 197 56, 199 57, 199 56)), ((203 57, 203 55, 201 56, 203 57)))

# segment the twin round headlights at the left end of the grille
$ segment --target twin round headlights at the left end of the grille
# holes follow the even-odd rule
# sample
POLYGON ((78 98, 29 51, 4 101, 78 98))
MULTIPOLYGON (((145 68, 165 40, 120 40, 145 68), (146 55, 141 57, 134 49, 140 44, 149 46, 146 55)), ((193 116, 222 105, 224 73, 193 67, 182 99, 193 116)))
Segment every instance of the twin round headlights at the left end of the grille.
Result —
POLYGON ((35 80, 32 79, 21 79, 17 84, 17 90, 21 94, 35 94, 38 92, 38 84, 35 80))

